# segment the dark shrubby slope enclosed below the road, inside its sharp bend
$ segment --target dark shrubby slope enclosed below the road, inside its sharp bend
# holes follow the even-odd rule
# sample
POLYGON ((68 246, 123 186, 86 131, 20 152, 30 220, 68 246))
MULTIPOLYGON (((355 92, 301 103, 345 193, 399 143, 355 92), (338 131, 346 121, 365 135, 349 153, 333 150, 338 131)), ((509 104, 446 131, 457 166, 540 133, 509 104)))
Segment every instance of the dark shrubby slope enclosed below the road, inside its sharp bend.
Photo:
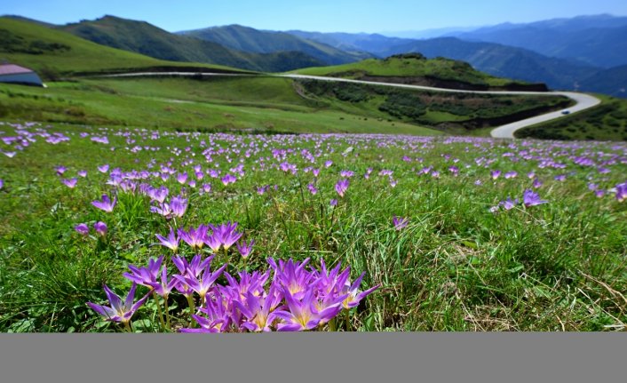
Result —
POLYGON ((453 134, 483 132, 484 127, 508 124, 571 104, 564 97, 424 92, 314 80, 299 80, 298 83, 312 98, 337 104, 337 108, 353 109, 355 113, 369 111, 378 118, 392 116, 453 134))

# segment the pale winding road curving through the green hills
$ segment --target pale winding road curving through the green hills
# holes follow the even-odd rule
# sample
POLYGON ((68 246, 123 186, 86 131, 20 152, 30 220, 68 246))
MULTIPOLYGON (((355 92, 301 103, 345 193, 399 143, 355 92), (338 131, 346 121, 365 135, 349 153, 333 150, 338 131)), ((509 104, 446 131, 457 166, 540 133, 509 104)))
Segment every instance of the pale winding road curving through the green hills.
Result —
MULTIPOLYGON (((224 74, 224 73, 190 73, 190 72, 139 72, 139 73, 123 73, 116 75, 101 75, 100 77, 139 77, 139 76, 258 76, 258 75, 246 75, 246 74, 224 74)), ((279 74, 279 75, 270 75, 276 77, 284 77, 284 78, 292 78, 292 79, 307 79, 307 80, 319 80, 319 81, 332 81, 337 83, 354 83, 354 84, 369 84, 369 85, 383 85, 383 86, 393 86, 396 88, 406 88, 406 89, 417 89, 422 91, 433 91, 433 92, 449 92, 449 93, 475 93, 475 94, 495 94, 495 95, 535 95, 535 96, 565 96, 571 100, 575 101, 575 105, 567 108, 569 113, 562 113, 563 110, 559 110, 556 112, 546 113, 544 115, 535 116, 526 118, 524 120, 516 121, 512 124, 505 124, 502 126, 497 126, 490 132, 490 135, 496 139, 513 139, 514 132, 519 131, 522 128, 526 128, 531 125, 545 123, 547 121, 552 121, 561 117, 569 116, 570 114, 580 112, 582 110, 595 107, 601 103, 601 100, 597 99, 594 96, 585 93, 577 93, 577 92, 510 92, 510 91, 464 91, 458 89, 445 89, 445 88, 434 88, 431 86, 422 86, 422 85, 409 85, 409 84, 394 84, 394 83, 380 83, 374 81, 362 81, 362 80, 353 80, 349 78, 338 78, 338 77, 324 77, 324 76, 306 76, 306 75, 295 75, 295 74, 279 74)))

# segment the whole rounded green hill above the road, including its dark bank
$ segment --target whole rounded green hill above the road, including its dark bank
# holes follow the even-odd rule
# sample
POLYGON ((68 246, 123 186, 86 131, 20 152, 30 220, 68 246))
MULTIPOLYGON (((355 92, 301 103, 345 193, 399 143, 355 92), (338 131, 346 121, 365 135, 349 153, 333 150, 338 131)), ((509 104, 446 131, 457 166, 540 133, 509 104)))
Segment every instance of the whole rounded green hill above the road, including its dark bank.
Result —
POLYGON ((295 72, 302 75, 337 76, 457 89, 484 90, 525 86, 509 79, 489 76, 463 61, 442 58, 427 60, 419 53, 395 55, 385 60, 369 59, 334 67, 298 69, 295 72))

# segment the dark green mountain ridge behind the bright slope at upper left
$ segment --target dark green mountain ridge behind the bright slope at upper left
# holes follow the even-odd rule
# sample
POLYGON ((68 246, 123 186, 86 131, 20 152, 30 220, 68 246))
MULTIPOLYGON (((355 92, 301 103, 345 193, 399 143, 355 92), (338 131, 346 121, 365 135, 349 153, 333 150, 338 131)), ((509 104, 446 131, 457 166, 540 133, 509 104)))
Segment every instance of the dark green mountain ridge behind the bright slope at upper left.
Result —
POLYGON ((60 27, 91 42, 144 54, 155 59, 202 62, 275 72, 323 65, 305 52, 240 52, 190 36, 171 34, 144 21, 105 16, 60 27))

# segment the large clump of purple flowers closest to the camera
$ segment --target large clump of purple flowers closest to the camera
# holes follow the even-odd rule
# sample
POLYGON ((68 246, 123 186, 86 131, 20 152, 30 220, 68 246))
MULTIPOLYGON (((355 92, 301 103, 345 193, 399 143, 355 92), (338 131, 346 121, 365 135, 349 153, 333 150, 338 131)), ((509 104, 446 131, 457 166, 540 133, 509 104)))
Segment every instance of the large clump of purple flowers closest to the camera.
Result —
MULTIPOLYGON (((227 242, 235 243, 234 236, 239 239, 233 234, 236 233, 236 225, 229 222, 207 227, 213 230, 213 235, 225 235, 229 238, 227 242)), ((205 227, 194 229, 194 233, 199 231, 204 233, 205 227)), ((168 237, 159 235, 159 239, 167 247, 178 246, 179 238, 174 230, 168 237)), ((237 243, 242 258, 250 254, 253 244, 254 241, 237 243)), ((131 331, 131 316, 151 294, 155 298, 163 331, 336 331, 337 316, 345 313, 346 330, 350 330, 350 310, 380 287, 376 285, 362 291, 361 281, 365 272, 351 280, 350 267, 342 270, 337 264, 327 269, 322 259, 318 269, 309 266, 310 259, 285 261, 268 258, 270 269, 266 272, 242 270, 237 275, 230 275, 226 272, 227 264, 212 267, 214 257, 215 254, 206 258, 196 254, 187 262, 185 257, 173 256, 171 260, 178 273, 171 275, 168 275, 163 256, 150 259, 147 267, 129 265, 131 272, 123 276, 133 284, 124 302, 105 285, 110 307, 92 302, 88 306, 107 321, 122 323, 127 331, 131 331), (133 303, 138 285, 146 286, 148 291, 137 303, 133 303), (184 295, 189 309, 187 315, 186 310, 179 312, 183 317, 174 325, 168 309, 171 291, 184 295), (158 296, 162 297, 165 305, 165 319, 158 296)))

